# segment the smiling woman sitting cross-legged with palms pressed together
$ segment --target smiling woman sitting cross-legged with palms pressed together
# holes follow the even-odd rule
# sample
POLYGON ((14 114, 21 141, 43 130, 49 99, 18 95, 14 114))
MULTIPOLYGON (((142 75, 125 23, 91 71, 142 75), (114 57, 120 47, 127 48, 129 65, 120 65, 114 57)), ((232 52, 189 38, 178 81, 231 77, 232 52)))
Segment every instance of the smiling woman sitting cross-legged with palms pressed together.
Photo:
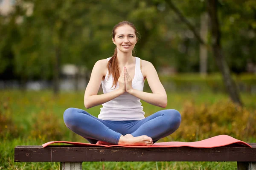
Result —
POLYGON ((73 132, 93 144, 151 146, 175 132, 180 126, 180 113, 174 109, 158 111, 144 117, 140 99, 165 108, 166 91, 154 66, 132 56, 137 43, 137 29, 128 21, 114 26, 112 57, 95 63, 84 94, 84 106, 102 105, 98 118, 84 110, 68 108, 64 122, 73 132), (143 92, 144 80, 153 93, 143 92), (98 95, 100 84, 104 94, 98 95))

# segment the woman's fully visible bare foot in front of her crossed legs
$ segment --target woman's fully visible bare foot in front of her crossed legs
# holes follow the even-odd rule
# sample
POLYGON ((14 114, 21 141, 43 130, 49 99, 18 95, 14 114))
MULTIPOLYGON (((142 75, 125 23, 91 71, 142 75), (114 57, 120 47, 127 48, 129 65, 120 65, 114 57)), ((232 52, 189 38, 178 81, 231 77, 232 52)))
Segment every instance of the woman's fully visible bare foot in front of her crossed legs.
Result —
POLYGON ((153 144, 153 140, 151 139, 151 137, 148 137, 146 135, 134 137, 131 134, 127 134, 120 137, 118 144, 133 146, 151 146, 153 144))

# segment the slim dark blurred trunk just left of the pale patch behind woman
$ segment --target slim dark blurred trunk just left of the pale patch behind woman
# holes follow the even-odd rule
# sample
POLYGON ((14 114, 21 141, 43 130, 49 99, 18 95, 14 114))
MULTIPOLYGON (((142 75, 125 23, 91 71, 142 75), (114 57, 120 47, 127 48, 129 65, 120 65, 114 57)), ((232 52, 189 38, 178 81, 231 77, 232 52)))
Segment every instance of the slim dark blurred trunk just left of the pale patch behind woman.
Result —
POLYGON ((60 47, 57 45, 55 47, 55 58, 54 58, 54 65, 53 65, 53 92, 54 94, 59 93, 59 74, 60 74, 60 58, 61 58, 61 50, 60 47))

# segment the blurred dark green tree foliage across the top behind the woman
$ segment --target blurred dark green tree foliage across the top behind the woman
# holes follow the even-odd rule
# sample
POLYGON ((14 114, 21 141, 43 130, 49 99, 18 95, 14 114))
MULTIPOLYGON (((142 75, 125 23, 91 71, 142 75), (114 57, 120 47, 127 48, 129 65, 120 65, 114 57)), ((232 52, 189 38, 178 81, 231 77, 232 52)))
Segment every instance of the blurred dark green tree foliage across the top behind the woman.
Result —
MULTIPOLYGON (((200 29, 206 2, 174 3, 200 29)), ((218 6, 225 57, 232 71, 245 72, 247 63, 256 62, 256 4, 254 0, 227 0, 219 1, 218 6)), ((61 65, 85 65, 90 70, 96 60, 113 54, 111 30, 122 20, 133 22, 141 34, 138 57, 156 68, 199 71, 199 43, 164 0, 20 0, 14 9, 0 16, 0 77, 4 79, 51 79, 56 48, 61 65)), ((212 57, 208 68, 209 72, 217 71, 212 57)))

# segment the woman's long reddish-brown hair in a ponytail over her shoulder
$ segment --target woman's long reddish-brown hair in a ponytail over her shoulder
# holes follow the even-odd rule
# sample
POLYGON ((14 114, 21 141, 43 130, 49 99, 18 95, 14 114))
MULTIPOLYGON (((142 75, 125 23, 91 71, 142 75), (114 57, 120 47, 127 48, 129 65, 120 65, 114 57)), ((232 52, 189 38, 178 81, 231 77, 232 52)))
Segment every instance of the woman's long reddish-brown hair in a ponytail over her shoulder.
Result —
MULTIPOLYGON (((116 35, 116 32, 115 32, 116 28, 118 28, 120 26, 125 26, 125 25, 131 26, 132 28, 134 28, 135 36, 138 37, 137 36, 137 34, 138 34, 137 29, 135 28, 134 24, 130 23, 129 21, 122 21, 122 22, 116 24, 113 27, 113 30, 112 30, 112 38, 113 39, 115 38, 115 35, 116 35)), ((113 54, 112 58, 108 61, 108 73, 109 73, 108 77, 109 77, 109 75, 112 74, 112 76, 114 78, 112 87, 115 85, 115 88, 116 88, 118 78, 120 77, 118 61, 117 61, 117 49, 116 48, 115 48, 115 51, 114 51, 114 54, 113 54)))

